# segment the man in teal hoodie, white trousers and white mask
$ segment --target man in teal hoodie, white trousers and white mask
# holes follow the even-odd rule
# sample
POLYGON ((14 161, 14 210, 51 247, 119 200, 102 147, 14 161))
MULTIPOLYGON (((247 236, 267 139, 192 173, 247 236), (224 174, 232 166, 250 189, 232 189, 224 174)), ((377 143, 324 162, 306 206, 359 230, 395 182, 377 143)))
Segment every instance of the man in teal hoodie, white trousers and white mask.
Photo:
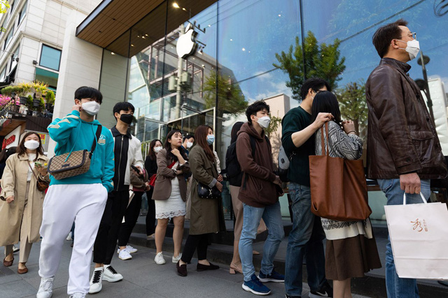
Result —
POLYGON ((41 225, 41 255, 39 258, 39 286, 37 298, 52 295, 53 279, 59 267, 62 244, 73 221, 76 239, 73 244, 69 266, 67 293, 71 297, 85 297, 89 291, 89 271, 92 262, 92 247, 98 231, 99 221, 106 205, 107 194, 113 189, 113 137, 111 131, 101 128, 94 115, 99 112, 102 94, 91 87, 80 87, 75 91, 73 111, 62 119, 55 119, 48 126, 48 133, 57 142, 55 155, 96 147, 90 168, 84 174, 55 179, 43 203, 41 225))

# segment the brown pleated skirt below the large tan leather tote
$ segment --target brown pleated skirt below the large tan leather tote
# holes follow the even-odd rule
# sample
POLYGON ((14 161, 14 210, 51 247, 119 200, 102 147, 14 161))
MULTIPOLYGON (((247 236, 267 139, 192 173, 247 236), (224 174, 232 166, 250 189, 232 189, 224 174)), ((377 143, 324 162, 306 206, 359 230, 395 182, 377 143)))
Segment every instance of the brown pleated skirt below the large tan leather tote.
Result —
POLYGON ((325 276, 332 281, 364 277, 372 269, 381 268, 375 238, 363 235, 346 239, 327 240, 325 276))

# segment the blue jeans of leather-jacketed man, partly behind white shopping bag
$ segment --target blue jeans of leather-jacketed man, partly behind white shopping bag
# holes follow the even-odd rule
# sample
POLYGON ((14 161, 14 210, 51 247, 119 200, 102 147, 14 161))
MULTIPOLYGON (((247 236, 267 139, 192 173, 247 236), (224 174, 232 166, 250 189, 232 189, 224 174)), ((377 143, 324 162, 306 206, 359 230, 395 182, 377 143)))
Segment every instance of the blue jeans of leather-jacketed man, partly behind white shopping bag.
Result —
MULTIPOLYGON (((403 203, 403 194, 400 188, 400 179, 377 179, 379 188, 386 195, 388 205, 403 203)), ((430 195, 430 180, 421 180, 421 193, 428 200, 430 195)), ((420 194, 406 195, 406 204, 420 204, 420 194)), ((386 289, 389 298, 417 298, 419 289, 414 278, 399 278, 395 271, 391 241, 386 244, 386 289)))

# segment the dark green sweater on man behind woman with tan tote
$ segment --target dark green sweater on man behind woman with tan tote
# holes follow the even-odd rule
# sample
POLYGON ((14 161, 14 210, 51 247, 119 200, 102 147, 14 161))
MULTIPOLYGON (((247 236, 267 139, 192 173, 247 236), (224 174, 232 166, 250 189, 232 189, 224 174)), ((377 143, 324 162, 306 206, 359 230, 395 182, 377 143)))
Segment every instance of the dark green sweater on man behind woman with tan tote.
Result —
POLYGON ((314 155, 314 134, 298 148, 295 147, 291 135, 302 131, 309 124, 311 124, 311 114, 308 114, 302 107, 293 108, 286 113, 281 121, 281 144, 288 156, 295 152, 289 164, 288 179, 304 186, 309 186, 308 156, 314 155))

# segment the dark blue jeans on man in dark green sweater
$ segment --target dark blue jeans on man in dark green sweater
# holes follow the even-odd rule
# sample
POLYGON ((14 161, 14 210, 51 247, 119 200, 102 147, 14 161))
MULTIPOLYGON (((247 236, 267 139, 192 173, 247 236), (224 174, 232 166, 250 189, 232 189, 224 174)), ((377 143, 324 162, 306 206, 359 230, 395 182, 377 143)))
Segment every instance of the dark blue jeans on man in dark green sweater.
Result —
POLYGON ((293 202, 293 230, 286 251, 285 289, 291 296, 302 295, 302 262, 307 260, 308 285, 317 291, 325 279, 325 253, 321 218, 311 213, 309 186, 290 183, 289 194, 293 202))

